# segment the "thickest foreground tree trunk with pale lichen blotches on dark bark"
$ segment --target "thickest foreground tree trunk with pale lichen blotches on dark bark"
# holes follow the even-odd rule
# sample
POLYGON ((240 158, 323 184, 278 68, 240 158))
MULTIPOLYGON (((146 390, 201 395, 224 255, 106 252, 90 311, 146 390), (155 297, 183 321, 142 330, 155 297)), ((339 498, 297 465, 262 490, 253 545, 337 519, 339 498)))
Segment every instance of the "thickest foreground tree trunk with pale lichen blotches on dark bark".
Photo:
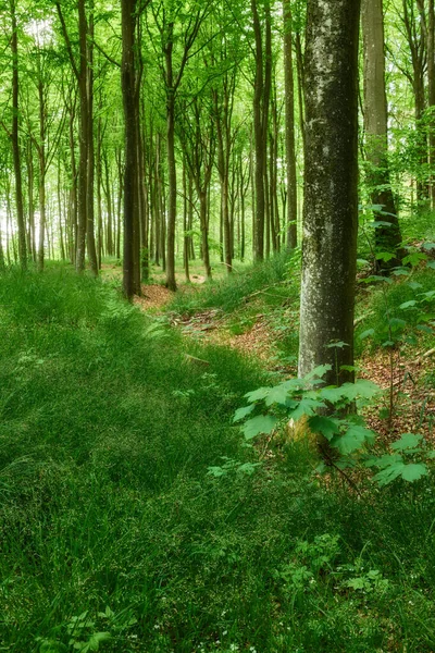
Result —
POLYGON ((352 379, 358 231, 358 0, 309 0, 299 374, 352 379), (328 348, 335 342, 345 346, 328 348))

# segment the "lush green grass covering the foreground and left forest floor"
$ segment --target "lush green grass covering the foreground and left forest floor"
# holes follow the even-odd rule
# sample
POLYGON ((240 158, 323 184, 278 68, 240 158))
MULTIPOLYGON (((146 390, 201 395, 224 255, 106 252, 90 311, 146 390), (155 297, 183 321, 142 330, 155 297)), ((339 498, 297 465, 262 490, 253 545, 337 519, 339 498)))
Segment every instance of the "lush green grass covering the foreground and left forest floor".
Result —
POLYGON ((302 445, 208 476, 257 460, 264 379, 191 347, 86 278, 0 279, 0 650, 432 651, 432 482, 357 501, 302 445))

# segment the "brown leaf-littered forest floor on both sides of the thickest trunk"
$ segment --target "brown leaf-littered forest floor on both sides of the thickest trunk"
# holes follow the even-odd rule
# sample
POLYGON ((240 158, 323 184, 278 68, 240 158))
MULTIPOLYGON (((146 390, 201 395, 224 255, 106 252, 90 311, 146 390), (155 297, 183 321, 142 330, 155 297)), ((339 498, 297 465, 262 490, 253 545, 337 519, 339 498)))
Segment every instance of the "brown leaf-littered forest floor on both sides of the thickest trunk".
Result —
MULTIPOLYGON (((201 282, 202 283, 202 282, 201 282)), ((186 294, 195 292, 183 286, 186 294)), ((135 298, 135 305, 152 315, 169 315, 173 326, 182 334, 198 342, 220 345, 235 349, 243 355, 261 362, 264 369, 281 372, 284 377, 295 375, 294 364, 282 362, 279 344, 283 336, 283 323, 289 331, 298 330, 295 311, 284 306, 278 311, 268 311, 261 301, 257 308, 250 307, 248 318, 246 309, 236 317, 228 316, 220 308, 197 310, 194 313, 178 313, 171 310, 174 294, 161 284, 142 286, 142 296, 135 298)), ((285 304, 285 303, 284 303, 285 304)), ((395 350, 364 350, 357 361, 360 375, 376 383, 383 391, 376 406, 372 406, 366 416, 368 424, 385 443, 397 440, 401 433, 412 432, 418 426, 419 432, 435 444, 435 390, 425 382, 435 378, 435 349, 409 350, 407 355, 395 350), (393 379, 391 379, 393 375, 393 379), (393 393, 394 418, 382 418, 388 410, 389 394, 393 393)))

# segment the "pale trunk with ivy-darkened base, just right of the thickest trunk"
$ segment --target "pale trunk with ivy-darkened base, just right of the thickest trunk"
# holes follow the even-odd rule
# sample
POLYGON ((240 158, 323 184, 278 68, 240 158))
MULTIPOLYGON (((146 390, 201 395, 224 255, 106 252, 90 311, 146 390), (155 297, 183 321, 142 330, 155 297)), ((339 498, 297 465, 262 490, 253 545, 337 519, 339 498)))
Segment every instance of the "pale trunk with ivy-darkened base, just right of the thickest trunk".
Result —
MULTIPOLYGON (((376 249, 396 254, 401 234, 388 170, 383 0, 362 0, 361 8, 368 181, 373 205, 383 207, 382 221, 390 224, 388 227, 376 229, 376 249)), ((397 256, 387 263, 380 262, 383 269, 397 264, 400 264, 397 256)))

